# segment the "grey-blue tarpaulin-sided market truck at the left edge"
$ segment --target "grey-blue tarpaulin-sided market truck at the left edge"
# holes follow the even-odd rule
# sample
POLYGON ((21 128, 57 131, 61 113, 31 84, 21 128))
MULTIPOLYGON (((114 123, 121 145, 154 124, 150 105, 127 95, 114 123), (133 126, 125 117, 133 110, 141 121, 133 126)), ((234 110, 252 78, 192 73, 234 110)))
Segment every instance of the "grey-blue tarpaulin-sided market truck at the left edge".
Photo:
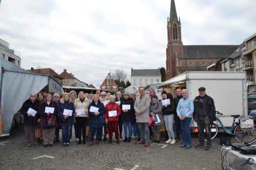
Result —
POLYGON ((0 66, 0 136, 7 136, 11 129, 23 123, 19 109, 31 92, 46 89, 60 94, 63 89, 52 76, 27 72, 3 58, 0 66))

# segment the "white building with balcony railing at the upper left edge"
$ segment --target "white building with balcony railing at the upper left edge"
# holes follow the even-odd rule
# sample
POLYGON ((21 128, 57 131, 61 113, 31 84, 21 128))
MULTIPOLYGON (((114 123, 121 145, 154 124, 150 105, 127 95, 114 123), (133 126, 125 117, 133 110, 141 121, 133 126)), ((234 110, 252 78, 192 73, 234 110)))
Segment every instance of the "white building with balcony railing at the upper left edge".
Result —
POLYGON ((9 43, 0 38, 0 55, 7 61, 20 67, 20 53, 9 46, 9 43))

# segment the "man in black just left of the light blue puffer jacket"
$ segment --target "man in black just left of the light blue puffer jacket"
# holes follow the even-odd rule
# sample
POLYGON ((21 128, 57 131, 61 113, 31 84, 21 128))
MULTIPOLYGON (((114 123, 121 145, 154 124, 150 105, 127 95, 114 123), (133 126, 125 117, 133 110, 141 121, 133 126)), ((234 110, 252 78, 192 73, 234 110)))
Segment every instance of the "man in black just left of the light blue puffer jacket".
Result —
POLYGON ((177 116, 176 109, 177 109, 180 99, 182 98, 182 93, 181 93, 180 88, 176 89, 176 95, 177 95, 177 97, 174 99, 174 106, 175 106, 174 121, 175 121, 175 126, 176 126, 176 142, 175 142, 175 144, 178 144, 178 143, 180 143, 181 125, 180 125, 180 118, 177 116))

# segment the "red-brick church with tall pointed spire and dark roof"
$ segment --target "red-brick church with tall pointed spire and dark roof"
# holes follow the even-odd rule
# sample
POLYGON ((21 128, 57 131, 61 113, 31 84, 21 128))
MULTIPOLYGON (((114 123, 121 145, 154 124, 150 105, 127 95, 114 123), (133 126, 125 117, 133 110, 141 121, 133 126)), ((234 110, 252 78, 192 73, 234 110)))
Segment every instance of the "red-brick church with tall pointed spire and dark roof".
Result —
MULTIPOLYGON (((192 33, 192 32, 191 32, 192 33)), ((181 21, 177 17, 175 1, 170 3, 167 21, 166 80, 185 71, 206 71, 217 61, 228 58, 239 45, 183 45, 181 21)))

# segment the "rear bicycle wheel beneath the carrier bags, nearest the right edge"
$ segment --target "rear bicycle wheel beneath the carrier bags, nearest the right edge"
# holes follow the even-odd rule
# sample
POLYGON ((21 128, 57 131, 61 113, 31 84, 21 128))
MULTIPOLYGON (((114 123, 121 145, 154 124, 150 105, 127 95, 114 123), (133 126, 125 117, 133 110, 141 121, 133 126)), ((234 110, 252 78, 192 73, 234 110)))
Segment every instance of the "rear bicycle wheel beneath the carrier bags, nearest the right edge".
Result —
POLYGON ((256 128, 254 127, 254 132, 243 132, 238 125, 234 127, 234 137, 241 143, 253 143, 256 141, 256 128))

